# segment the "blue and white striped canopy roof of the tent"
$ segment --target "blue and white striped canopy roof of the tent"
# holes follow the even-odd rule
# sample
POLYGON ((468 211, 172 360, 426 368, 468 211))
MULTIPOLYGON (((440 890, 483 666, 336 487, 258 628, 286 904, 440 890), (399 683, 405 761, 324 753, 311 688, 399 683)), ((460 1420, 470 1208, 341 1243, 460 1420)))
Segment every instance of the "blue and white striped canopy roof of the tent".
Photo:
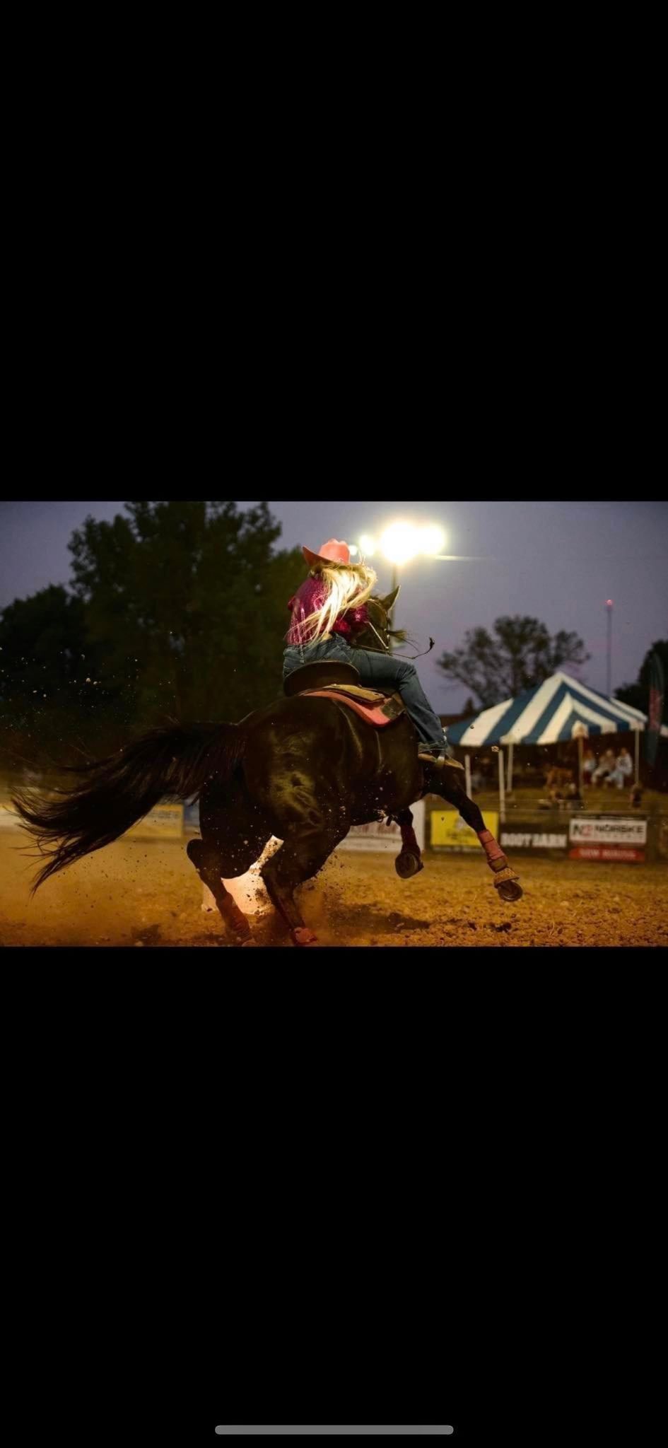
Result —
MULTIPOLYGON (((609 699, 568 673, 554 673, 516 699, 504 699, 472 720, 451 724, 448 741, 468 749, 483 744, 558 744, 584 733, 643 730, 646 721, 646 714, 630 704, 609 699)), ((664 727, 661 733, 668 734, 668 730, 664 727)))

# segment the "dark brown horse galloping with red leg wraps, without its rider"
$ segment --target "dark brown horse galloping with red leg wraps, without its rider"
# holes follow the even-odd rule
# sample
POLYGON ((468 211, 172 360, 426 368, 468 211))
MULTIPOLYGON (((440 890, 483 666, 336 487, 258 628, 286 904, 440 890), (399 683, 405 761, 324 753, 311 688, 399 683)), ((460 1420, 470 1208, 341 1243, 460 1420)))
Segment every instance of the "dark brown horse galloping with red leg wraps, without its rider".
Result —
MULTIPOLYGON (((370 599, 372 628, 359 634, 358 646, 390 647, 394 597, 370 599)), ((332 678, 338 668, 320 665, 332 678)), ((485 834, 478 807, 459 783, 461 770, 419 759, 407 714, 375 728, 345 704, 304 694, 277 698, 239 724, 151 730, 80 773, 87 778, 54 799, 33 792, 14 799, 25 827, 51 856, 33 889, 117 840, 159 799, 199 798, 201 838, 191 840, 187 853, 239 940, 249 938, 249 925, 223 879, 245 875, 272 835, 283 844, 262 866, 262 879, 291 938, 304 946, 316 937, 294 889, 322 869, 352 825, 381 815, 397 820, 403 850, 396 864, 404 879, 422 869, 410 805, 425 794, 441 795, 485 834)), ((498 846, 488 834, 483 846, 498 892, 517 899, 522 891, 498 846)))

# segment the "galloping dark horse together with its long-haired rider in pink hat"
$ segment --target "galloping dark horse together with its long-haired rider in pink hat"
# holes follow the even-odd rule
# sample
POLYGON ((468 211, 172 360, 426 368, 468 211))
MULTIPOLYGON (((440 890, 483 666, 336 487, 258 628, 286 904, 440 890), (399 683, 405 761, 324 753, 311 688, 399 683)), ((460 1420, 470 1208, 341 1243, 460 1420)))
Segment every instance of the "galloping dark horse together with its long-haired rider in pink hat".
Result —
POLYGON ((239 724, 151 730, 112 759, 77 770, 87 779, 57 791, 59 798, 16 796, 26 828, 51 856, 33 891, 57 870, 117 840, 164 796, 199 798, 201 838, 191 840, 187 853, 225 921, 239 940, 248 938, 248 921, 223 879, 245 875, 274 835, 283 844, 264 863, 262 879, 293 941, 306 946, 316 937, 294 901, 297 885, 322 869, 352 825, 378 814, 397 820, 403 856, 409 863, 413 856, 419 869, 410 805, 438 794, 475 830, 498 893, 504 899, 522 895, 514 870, 446 757, 441 723, 413 665, 388 653, 396 592, 372 598, 372 569, 351 569, 348 547, 336 540, 317 555, 304 549, 304 556, 312 572, 291 599, 288 686, 303 663, 352 662, 364 683, 398 689, 406 712, 390 727, 374 728, 336 695, 304 692, 274 699, 239 724))

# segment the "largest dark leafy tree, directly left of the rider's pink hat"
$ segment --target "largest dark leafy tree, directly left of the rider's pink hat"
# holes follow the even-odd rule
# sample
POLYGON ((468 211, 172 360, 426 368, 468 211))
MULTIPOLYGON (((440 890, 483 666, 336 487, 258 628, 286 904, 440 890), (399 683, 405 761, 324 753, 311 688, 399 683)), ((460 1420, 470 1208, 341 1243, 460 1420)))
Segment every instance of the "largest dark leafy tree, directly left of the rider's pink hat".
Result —
POLYGON ((261 502, 128 502, 70 544, 74 591, 103 675, 143 723, 238 720, 281 692, 300 549, 261 502))

